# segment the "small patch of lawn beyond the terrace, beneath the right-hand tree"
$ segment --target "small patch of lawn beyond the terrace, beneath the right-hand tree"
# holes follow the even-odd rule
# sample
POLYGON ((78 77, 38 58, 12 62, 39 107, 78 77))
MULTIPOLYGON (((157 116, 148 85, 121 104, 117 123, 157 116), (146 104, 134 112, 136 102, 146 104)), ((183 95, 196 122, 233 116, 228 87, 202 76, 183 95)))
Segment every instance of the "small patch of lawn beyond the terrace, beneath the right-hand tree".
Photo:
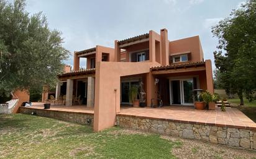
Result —
POLYGON ((246 116, 256 122, 256 100, 249 102, 244 98, 244 105, 240 106, 239 98, 228 99, 233 108, 237 108, 242 111, 246 116))

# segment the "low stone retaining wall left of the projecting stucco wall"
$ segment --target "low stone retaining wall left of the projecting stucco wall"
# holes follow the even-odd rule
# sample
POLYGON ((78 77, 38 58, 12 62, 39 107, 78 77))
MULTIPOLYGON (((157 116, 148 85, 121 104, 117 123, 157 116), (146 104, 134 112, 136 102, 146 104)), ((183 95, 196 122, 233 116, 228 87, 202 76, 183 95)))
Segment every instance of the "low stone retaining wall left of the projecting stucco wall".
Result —
POLYGON ((56 110, 39 110, 39 109, 27 108, 27 107, 20 107, 19 112, 22 114, 32 114, 32 112, 34 112, 35 115, 38 115, 38 116, 93 126, 92 113, 78 113, 78 112, 56 111, 56 110), (88 119, 91 122, 88 123, 88 119))

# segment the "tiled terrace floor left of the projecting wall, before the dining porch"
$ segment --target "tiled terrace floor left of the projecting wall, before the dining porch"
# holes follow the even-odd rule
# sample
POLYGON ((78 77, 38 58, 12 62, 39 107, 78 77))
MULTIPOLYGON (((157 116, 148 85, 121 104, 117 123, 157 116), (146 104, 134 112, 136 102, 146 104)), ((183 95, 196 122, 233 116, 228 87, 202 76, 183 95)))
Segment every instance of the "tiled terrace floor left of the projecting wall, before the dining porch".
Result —
MULTIPOLYGON (((34 108, 34 109, 40 109, 43 110, 44 103, 40 102, 33 102, 31 107, 27 108, 34 108)), ((53 105, 51 104, 49 110, 54 110, 54 111, 69 111, 69 112, 76 112, 76 113, 94 113, 94 108, 88 108, 86 105, 73 105, 73 106, 63 106, 63 105, 53 105)))

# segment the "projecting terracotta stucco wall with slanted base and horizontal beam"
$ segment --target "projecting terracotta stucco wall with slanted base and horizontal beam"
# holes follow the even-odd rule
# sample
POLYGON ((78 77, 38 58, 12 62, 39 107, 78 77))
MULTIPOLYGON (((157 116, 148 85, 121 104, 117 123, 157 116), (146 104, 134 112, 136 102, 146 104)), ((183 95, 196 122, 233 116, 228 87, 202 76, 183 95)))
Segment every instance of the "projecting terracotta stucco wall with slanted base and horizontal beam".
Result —
POLYGON ((97 62, 94 131, 114 126, 120 111, 121 76, 149 73, 155 62, 97 62))

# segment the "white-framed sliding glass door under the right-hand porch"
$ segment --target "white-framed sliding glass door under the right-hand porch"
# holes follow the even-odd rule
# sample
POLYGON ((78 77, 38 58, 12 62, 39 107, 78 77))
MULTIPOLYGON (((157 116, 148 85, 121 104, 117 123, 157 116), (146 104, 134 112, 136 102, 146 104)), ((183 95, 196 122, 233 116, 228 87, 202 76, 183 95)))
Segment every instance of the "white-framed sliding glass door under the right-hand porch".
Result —
POLYGON ((193 105, 193 79, 170 80, 170 104, 193 105))

